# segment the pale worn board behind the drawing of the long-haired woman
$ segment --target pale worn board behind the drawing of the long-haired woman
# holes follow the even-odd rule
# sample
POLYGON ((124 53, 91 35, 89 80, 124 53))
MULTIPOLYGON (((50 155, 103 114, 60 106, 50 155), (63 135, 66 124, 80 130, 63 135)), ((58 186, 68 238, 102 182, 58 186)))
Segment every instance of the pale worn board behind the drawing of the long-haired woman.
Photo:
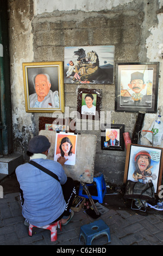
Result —
MULTIPOLYGON (((41 130, 39 135, 44 135, 51 143, 48 159, 54 160, 56 131, 41 130)), ((76 164, 74 166, 64 165, 63 168, 68 177, 73 180, 92 183, 96 155, 96 135, 80 134, 77 138, 76 164)))

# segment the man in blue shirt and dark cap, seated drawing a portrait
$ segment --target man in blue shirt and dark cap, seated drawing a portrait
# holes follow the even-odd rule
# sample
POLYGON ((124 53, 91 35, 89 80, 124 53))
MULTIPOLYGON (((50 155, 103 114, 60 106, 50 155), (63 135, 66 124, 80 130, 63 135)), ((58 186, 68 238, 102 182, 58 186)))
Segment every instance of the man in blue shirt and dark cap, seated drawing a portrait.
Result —
POLYGON ((56 174, 59 181, 30 163, 16 168, 21 189, 22 215, 37 227, 59 220, 65 225, 73 217, 71 206, 76 195, 74 182, 67 178, 62 168, 65 157, 60 157, 58 162, 47 159, 50 147, 51 143, 46 136, 35 136, 29 141, 27 155, 30 160, 56 174))

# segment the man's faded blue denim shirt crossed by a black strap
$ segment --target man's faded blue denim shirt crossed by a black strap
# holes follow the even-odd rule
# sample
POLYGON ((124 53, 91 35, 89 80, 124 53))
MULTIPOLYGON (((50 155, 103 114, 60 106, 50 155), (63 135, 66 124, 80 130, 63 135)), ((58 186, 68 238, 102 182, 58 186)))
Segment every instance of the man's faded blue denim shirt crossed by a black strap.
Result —
POLYGON ((55 173, 60 182, 30 163, 16 168, 17 180, 23 191, 22 215, 29 223, 43 226, 55 221, 65 210, 66 202, 61 185, 67 176, 61 164, 47 159, 33 159, 41 166, 55 173), (61 185, 60 185, 61 184, 61 185))

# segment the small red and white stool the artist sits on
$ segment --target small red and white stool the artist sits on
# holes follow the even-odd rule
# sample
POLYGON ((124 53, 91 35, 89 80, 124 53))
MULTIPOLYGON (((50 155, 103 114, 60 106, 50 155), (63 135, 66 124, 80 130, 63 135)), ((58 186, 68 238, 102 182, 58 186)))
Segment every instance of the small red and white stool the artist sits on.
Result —
POLYGON ((28 230, 29 236, 32 236, 33 227, 51 230, 51 241, 54 242, 57 240, 57 227, 60 228, 60 230, 61 230, 61 222, 57 221, 52 224, 45 225, 43 227, 37 227, 35 225, 29 224, 29 230, 28 230))

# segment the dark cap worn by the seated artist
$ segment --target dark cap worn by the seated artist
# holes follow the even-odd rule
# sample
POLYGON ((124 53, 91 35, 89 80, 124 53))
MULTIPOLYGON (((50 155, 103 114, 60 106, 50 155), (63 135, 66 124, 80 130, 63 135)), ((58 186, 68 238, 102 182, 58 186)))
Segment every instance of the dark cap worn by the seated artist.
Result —
POLYGON ((37 135, 30 139, 27 151, 31 153, 42 153, 51 147, 48 138, 43 135, 37 135))

